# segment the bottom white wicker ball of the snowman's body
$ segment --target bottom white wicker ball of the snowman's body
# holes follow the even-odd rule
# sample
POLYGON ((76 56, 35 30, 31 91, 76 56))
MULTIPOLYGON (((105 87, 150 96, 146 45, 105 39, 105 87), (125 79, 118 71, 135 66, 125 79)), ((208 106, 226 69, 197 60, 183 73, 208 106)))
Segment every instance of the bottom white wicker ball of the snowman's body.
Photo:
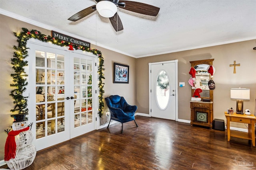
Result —
POLYGON ((8 167, 12 170, 21 170, 30 166, 36 157, 36 147, 30 143, 22 148, 16 149, 16 156, 6 161, 8 167))

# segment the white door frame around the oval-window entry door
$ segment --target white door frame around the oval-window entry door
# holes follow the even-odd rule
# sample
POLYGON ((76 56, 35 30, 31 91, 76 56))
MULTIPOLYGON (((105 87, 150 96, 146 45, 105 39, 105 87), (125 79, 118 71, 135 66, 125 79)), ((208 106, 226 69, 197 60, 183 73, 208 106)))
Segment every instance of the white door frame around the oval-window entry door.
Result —
POLYGON ((149 89, 148 89, 148 94, 149 94, 149 116, 151 117, 151 65, 153 64, 164 64, 164 63, 175 63, 175 121, 178 121, 178 60, 171 60, 171 61, 160 61, 156 63, 148 63, 148 75, 149 75, 149 89))

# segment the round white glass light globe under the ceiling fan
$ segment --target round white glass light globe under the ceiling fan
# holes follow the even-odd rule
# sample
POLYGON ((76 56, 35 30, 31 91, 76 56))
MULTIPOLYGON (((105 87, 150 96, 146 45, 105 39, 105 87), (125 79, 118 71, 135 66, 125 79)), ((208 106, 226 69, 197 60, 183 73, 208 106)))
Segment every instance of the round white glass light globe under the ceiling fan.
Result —
POLYGON ((108 0, 100 1, 96 4, 99 14, 106 18, 111 18, 117 12, 117 6, 108 0))

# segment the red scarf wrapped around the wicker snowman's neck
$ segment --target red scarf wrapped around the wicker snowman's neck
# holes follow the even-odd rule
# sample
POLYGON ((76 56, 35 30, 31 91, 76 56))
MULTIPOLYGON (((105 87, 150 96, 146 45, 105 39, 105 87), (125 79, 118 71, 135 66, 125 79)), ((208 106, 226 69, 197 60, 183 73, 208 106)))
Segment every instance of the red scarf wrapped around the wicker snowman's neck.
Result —
POLYGON ((4 147, 4 160, 10 160, 11 158, 15 158, 16 156, 16 142, 15 136, 20 134, 20 132, 27 131, 30 127, 26 127, 24 129, 20 129, 18 131, 10 131, 8 133, 8 137, 6 139, 5 147, 4 147))

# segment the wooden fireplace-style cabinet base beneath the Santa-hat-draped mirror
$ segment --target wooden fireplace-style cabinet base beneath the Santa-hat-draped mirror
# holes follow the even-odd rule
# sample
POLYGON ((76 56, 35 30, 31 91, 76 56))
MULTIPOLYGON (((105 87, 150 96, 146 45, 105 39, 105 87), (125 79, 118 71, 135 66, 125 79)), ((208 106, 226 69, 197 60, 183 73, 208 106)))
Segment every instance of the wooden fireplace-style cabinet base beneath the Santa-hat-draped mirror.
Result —
POLYGON ((192 125, 206 126, 212 129, 213 102, 190 101, 192 125))

